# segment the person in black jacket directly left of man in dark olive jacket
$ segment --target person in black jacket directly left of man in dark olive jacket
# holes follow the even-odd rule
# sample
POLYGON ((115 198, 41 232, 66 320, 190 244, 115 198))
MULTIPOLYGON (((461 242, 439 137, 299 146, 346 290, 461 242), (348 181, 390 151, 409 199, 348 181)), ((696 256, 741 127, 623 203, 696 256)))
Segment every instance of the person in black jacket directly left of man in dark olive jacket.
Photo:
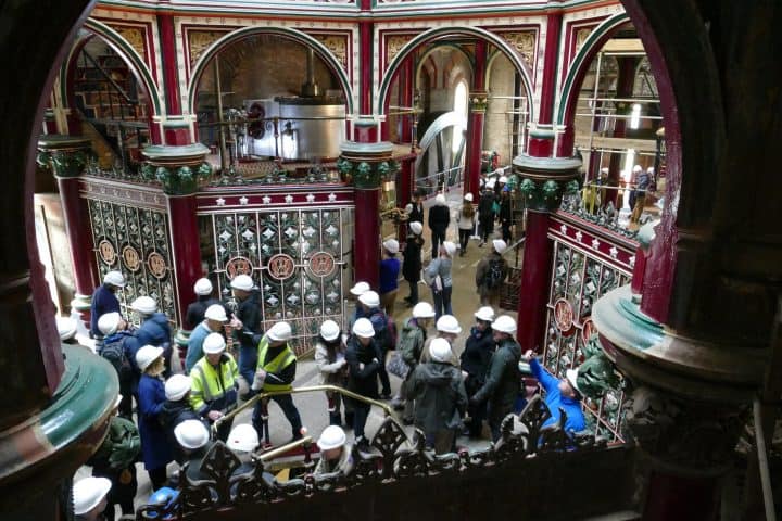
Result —
MULTIPOLYGON (((467 338, 465 350, 459 357, 468 398, 475 396, 485 383, 489 363, 496 347, 491 329, 492 321, 494 321, 494 309, 483 306, 475 313, 475 318, 476 325, 470 329, 470 335, 467 338)), ((467 411, 470 417, 467 434, 475 439, 481 437, 485 403, 470 405, 467 411)))

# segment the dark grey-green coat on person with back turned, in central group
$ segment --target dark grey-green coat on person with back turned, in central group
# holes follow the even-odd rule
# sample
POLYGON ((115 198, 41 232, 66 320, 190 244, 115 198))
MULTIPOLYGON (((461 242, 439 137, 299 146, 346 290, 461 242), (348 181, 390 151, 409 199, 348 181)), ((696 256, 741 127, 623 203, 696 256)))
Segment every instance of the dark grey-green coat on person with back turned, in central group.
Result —
POLYGON ((467 410, 462 373, 451 364, 429 361, 413 371, 409 399, 415 399, 415 424, 427 434, 456 429, 467 410))

